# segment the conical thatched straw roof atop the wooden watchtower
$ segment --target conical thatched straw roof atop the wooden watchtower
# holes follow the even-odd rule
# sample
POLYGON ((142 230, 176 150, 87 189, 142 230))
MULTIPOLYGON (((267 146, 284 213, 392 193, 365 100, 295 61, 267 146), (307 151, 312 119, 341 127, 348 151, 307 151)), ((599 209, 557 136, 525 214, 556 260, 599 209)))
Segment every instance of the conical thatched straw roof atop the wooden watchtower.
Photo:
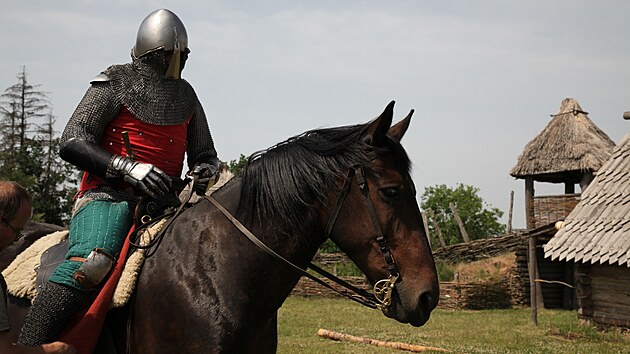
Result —
POLYGON ((573 98, 560 110, 518 158, 510 175, 536 181, 579 183, 585 172, 597 171, 608 160, 615 143, 587 116, 573 98))

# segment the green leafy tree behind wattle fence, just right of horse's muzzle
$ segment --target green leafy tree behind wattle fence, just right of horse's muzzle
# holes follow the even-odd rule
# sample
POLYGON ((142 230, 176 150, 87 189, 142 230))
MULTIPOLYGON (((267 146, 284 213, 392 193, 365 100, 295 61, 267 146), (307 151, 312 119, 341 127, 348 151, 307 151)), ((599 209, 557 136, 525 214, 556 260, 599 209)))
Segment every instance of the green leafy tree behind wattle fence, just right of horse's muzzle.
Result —
MULTIPOLYGON (((421 196, 420 207, 431 209, 434 221, 442 231, 447 245, 463 242, 459 227, 449 206, 454 203, 471 240, 497 236, 505 232, 505 225, 499 222, 503 212, 491 208, 478 195, 479 188, 458 184, 456 188, 446 185, 426 187, 421 196)), ((429 223, 431 244, 439 245, 436 230, 429 223)))

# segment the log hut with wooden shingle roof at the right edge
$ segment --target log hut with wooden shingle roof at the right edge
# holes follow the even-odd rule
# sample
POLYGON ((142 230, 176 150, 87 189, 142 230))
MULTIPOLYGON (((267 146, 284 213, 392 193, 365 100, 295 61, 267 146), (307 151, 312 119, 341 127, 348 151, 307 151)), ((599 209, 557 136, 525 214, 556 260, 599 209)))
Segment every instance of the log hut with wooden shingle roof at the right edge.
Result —
POLYGON ((575 262, 578 317, 630 328, 630 133, 544 252, 575 262))

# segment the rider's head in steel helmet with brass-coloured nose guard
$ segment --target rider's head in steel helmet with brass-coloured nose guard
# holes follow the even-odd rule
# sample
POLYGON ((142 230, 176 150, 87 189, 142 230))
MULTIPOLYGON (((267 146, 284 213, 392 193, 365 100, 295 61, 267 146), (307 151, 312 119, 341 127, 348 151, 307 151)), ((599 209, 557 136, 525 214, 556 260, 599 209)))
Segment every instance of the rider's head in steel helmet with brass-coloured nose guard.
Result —
POLYGON ((188 33, 182 21, 167 9, 153 11, 138 28, 133 60, 160 55, 166 66, 166 78, 179 79, 188 59, 188 33))

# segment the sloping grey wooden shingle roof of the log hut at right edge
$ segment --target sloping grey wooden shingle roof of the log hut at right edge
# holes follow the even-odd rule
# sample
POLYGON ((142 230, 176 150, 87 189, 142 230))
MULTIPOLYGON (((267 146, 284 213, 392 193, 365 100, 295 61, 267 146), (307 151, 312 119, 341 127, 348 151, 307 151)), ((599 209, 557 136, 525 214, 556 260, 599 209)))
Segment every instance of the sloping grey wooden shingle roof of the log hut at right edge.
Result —
POLYGON ((545 257, 630 267, 630 133, 597 172, 545 257))

